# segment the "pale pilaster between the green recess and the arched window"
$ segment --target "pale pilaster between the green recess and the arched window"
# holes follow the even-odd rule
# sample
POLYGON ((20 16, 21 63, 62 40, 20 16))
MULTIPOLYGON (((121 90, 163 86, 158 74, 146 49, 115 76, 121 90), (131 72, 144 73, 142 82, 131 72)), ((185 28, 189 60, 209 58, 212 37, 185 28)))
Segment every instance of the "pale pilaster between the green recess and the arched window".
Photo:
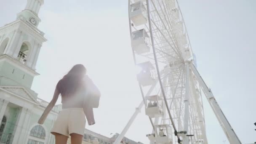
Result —
POLYGON ((21 112, 19 114, 19 119, 17 120, 16 123, 16 131, 13 133, 13 144, 19 144, 19 139, 22 139, 22 135, 24 133, 21 133, 22 130, 24 130, 24 122, 25 119, 27 118, 27 111, 28 109, 25 107, 21 107, 21 112))

